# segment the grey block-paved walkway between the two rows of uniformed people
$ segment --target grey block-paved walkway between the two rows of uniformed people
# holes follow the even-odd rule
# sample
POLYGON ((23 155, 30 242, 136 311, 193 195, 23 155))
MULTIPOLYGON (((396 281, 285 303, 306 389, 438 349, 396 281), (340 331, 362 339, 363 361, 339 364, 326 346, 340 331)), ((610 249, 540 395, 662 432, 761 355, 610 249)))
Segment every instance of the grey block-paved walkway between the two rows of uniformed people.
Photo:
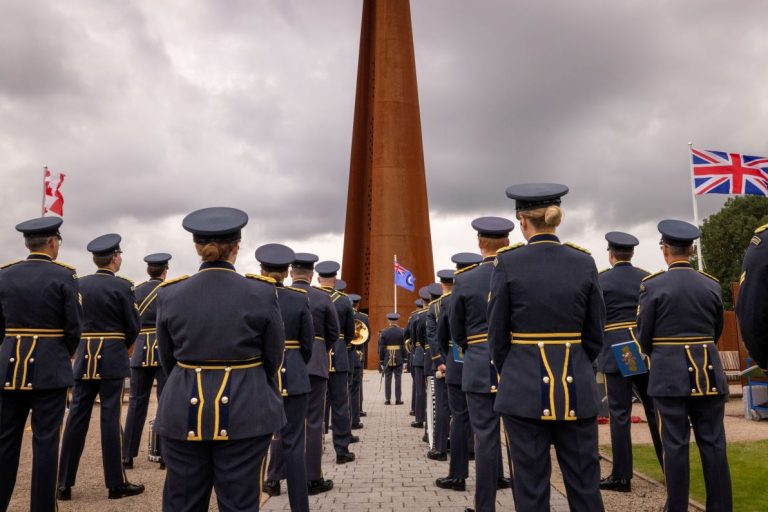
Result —
MULTIPOLYGON (((470 462, 466 492, 446 491, 435 486, 435 479, 448 476, 448 462, 427 459, 428 447, 421 440, 422 431, 411 428, 408 415, 411 377, 403 375, 405 405, 384 405, 384 390, 379 390, 379 374, 365 373, 365 428, 355 430, 360 443, 350 446, 357 460, 336 465, 331 435, 325 438, 323 470, 334 482, 332 491, 309 497, 310 509, 376 511, 464 512, 472 506, 475 491, 475 463, 470 462)), ((505 474, 509 468, 505 462, 505 474)), ((565 497, 552 489, 552 510, 568 510, 565 497)), ((499 491, 497 510, 514 510, 512 492, 499 491)), ((285 482, 282 494, 269 498, 263 510, 290 510, 285 482)))

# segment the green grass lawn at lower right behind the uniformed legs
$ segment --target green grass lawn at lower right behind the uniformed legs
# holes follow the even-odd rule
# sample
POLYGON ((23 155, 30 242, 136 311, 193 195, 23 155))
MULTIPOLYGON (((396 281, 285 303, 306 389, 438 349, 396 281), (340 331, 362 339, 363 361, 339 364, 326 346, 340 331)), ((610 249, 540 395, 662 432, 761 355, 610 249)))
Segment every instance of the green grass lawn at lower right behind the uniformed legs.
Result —
MULTIPOLYGON (((601 446, 606 453, 611 447, 601 446)), ((664 475, 651 445, 634 445, 632 448, 635 470, 659 482, 664 475)), ((691 498, 706 503, 704 477, 701 472, 699 450, 691 443, 691 498)), ((760 512, 768 509, 768 441, 728 443, 728 465, 731 468, 733 509, 740 512, 760 512)))

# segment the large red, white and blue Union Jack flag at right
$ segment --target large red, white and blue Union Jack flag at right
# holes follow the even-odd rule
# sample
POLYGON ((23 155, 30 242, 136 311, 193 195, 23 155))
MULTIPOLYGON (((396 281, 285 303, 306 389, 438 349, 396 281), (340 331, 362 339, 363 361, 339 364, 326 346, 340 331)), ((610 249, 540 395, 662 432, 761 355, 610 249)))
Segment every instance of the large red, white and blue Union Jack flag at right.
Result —
POLYGON ((691 148, 693 191, 768 196, 768 158, 691 148))

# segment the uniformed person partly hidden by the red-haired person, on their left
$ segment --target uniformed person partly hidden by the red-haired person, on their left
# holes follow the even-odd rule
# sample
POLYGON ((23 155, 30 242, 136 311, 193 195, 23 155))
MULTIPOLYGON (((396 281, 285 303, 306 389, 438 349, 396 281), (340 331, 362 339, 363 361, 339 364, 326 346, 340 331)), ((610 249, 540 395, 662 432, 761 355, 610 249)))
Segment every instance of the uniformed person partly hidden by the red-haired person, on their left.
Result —
MULTIPOLYGON (((466 268, 476 265, 480 255, 472 253, 455 254, 451 260, 456 268, 466 268)), ((435 484, 442 489, 454 491, 466 490, 466 479, 469 476, 469 446, 473 444, 472 429, 469 426, 467 413, 467 398, 461 391, 461 379, 464 368, 464 354, 454 349, 453 336, 450 326, 450 311, 452 306, 452 290, 454 271, 441 271, 443 275, 450 276, 451 283, 447 284, 448 291, 443 295, 440 307, 440 318, 437 321, 437 341, 440 354, 445 360, 445 385, 448 398, 448 408, 451 412, 450 439, 451 461, 448 468, 448 476, 438 478, 435 484)), ((438 272, 440 275, 440 272, 438 272)))

